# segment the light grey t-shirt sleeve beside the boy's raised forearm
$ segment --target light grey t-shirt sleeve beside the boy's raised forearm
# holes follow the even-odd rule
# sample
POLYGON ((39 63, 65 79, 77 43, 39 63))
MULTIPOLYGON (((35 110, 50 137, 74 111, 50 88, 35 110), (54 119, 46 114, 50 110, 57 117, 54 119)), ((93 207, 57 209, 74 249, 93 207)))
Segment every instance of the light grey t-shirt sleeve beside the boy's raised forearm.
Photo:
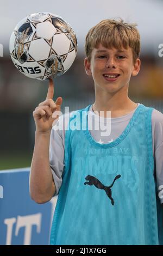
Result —
POLYGON ((53 180, 56 187, 54 196, 57 196, 62 184, 62 173, 64 171, 65 136, 63 129, 63 115, 58 119, 51 130, 49 144, 49 162, 52 170, 53 180))

